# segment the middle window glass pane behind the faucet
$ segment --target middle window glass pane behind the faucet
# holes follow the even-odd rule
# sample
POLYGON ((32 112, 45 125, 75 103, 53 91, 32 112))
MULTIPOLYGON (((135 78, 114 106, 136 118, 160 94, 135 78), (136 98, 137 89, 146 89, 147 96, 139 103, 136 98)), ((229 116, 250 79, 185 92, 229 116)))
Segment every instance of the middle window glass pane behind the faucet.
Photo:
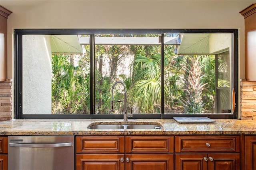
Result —
POLYGON ((124 87, 130 113, 160 113, 161 45, 160 34, 95 35, 95 113, 123 114, 124 87), (113 96, 113 97, 112 97, 113 96), (114 111, 110 112, 110 101, 114 111), (120 102, 116 102, 120 101, 120 102))

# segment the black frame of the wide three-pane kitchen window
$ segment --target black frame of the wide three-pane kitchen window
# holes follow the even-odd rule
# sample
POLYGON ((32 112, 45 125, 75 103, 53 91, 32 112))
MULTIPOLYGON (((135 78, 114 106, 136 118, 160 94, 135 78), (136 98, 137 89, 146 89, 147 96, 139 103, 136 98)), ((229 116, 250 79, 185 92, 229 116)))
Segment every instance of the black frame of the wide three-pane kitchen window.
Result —
MULTIPOLYGON (((231 33, 233 34, 233 73, 232 81, 235 91, 235 109, 233 114, 134 114, 133 119, 172 119, 173 117, 209 117, 212 119, 237 119, 238 118, 238 30, 237 29, 16 29, 14 30, 14 118, 15 119, 123 119, 123 115, 93 114, 94 113, 94 61, 95 44, 94 34, 161 34, 164 33, 231 33), (23 35, 90 35, 90 114, 65 114, 65 115, 36 115, 22 114, 22 36, 23 35)), ((164 56, 164 38, 161 40, 161 55, 164 56)), ((161 67, 164 66, 164 57, 161 67)), ((161 69, 164 79, 164 69, 161 69)), ((161 81, 161 91, 164 89, 164 81, 161 81)), ((161 110, 164 109, 164 93, 161 93, 161 110)))

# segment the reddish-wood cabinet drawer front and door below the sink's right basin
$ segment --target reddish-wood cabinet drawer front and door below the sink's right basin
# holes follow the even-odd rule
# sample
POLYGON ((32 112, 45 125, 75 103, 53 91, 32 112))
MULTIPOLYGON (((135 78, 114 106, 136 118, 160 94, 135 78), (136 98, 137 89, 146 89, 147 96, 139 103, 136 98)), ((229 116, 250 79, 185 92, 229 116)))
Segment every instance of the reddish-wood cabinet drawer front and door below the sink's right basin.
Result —
POLYGON ((174 170, 173 136, 126 136, 125 170, 174 170))

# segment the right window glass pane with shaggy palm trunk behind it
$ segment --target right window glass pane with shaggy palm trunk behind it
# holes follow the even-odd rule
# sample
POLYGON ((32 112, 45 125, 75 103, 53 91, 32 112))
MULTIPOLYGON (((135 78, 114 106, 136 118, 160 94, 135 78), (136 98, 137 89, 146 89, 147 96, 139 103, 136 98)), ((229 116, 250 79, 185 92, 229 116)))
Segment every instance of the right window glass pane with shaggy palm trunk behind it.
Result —
POLYGON ((164 113, 230 109, 231 49, 232 34, 164 34, 164 113), (220 51, 227 52, 216 57, 220 51))

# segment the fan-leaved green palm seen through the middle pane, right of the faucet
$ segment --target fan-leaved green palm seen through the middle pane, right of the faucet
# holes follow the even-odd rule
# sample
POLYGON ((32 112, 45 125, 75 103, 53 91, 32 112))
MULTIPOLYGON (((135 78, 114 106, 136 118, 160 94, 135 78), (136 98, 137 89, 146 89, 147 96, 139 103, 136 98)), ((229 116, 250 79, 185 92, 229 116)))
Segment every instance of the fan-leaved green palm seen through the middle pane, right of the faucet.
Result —
POLYGON ((136 55, 131 65, 133 85, 129 90, 130 103, 140 113, 159 113, 161 102, 161 55, 136 55))

